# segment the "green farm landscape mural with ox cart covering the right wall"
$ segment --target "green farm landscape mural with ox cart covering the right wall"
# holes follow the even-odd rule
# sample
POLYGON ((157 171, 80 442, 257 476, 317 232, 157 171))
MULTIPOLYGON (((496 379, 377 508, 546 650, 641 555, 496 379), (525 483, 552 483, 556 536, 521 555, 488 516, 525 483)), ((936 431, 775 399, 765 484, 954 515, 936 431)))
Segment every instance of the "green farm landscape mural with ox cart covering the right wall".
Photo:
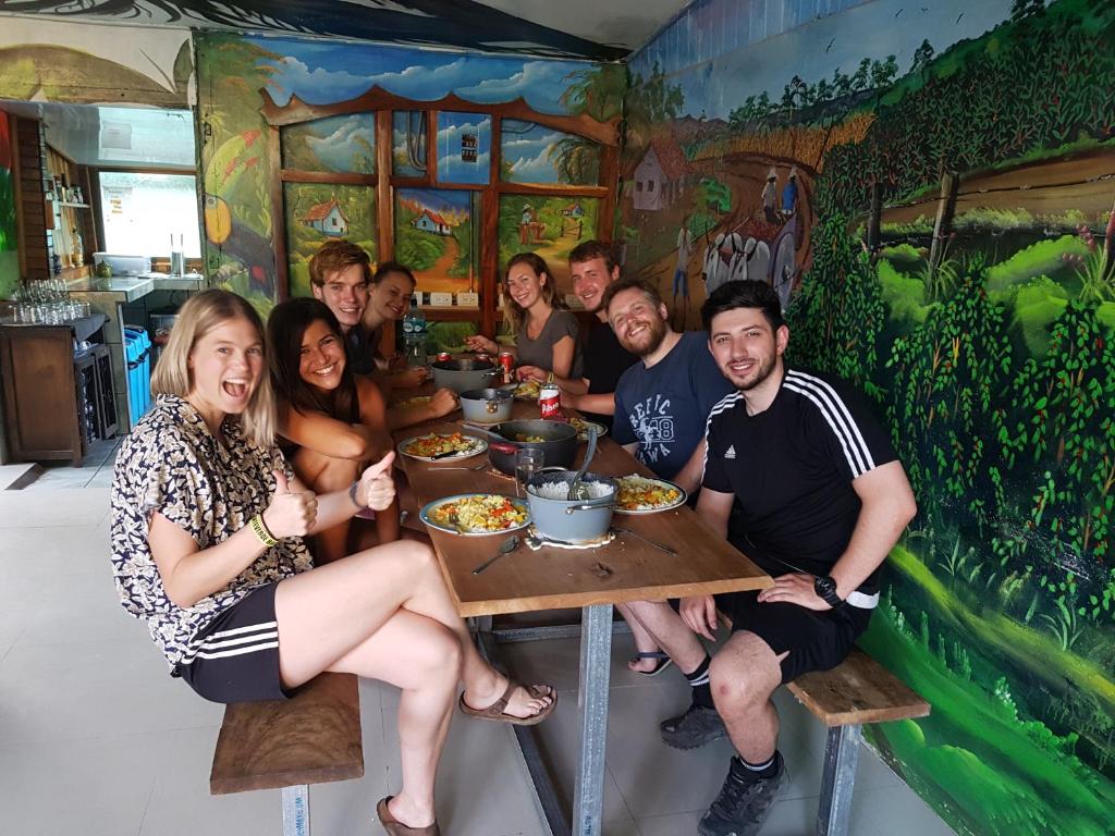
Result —
POLYGON ((691 327, 765 276, 789 361, 889 418, 921 513, 864 644, 933 713, 873 745, 959 833, 1108 834, 1115 7, 799 6, 698 2, 632 59, 627 269, 691 327))

